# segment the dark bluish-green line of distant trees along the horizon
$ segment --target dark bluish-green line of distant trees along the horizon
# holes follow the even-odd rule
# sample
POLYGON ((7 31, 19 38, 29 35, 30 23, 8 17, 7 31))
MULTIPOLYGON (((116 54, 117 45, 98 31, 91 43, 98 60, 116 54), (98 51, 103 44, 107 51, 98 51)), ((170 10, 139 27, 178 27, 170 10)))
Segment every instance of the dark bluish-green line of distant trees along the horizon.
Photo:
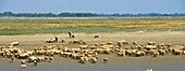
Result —
POLYGON ((97 14, 97 13, 0 13, 0 17, 139 17, 139 16, 185 16, 185 14, 161 14, 161 13, 148 13, 148 14, 97 14))

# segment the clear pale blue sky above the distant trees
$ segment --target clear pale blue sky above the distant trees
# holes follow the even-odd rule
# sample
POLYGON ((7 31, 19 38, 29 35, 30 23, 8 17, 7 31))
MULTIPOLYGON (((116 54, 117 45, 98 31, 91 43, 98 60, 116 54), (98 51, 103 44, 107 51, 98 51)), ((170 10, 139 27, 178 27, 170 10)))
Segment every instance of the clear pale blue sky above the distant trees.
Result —
POLYGON ((185 13, 185 0, 0 0, 14 13, 185 13))

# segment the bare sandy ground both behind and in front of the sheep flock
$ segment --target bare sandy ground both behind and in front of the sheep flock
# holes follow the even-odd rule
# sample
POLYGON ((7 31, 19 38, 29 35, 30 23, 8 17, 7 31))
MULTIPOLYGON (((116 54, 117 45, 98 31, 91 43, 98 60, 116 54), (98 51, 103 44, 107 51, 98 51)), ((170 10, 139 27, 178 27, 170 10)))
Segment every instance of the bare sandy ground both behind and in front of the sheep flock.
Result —
MULTIPOLYGON (((145 44, 147 41, 156 41, 159 43, 185 44, 185 32, 116 32, 116 33, 75 33, 76 39, 83 39, 88 45, 95 43, 113 42, 118 40, 126 40, 128 42, 137 41, 139 44, 145 44), (95 34, 100 38, 94 39, 95 34)), ((77 47, 77 44, 67 44, 66 33, 61 34, 35 34, 35 36, 0 36, 0 46, 8 45, 10 42, 20 41, 16 47, 24 49, 34 49, 34 47, 48 45, 63 45, 67 47, 77 47), (46 39, 58 37, 64 39, 65 43, 45 43, 46 39)), ((0 57, 0 71, 144 71, 152 68, 155 71, 184 71, 185 58, 174 55, 165 55, 159 57, 118 57, 115 54, 98 55, 97 63, 82 65, 77 60, 55 56, 52 62, 39 62, 33 67, 33 63, 27 63, 28 68, 21 69, 21 59, 15 59, 13 63, 9 62, 9 58, 0 57), (102 62, 102 58, 108 57, 108 63, 102 62)))

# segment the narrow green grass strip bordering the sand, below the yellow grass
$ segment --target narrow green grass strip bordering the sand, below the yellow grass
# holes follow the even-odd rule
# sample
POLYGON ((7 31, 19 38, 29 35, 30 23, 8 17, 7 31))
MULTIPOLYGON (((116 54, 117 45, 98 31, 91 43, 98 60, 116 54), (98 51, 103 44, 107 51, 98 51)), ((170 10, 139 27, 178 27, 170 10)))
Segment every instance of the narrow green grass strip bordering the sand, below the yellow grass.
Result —
POLYGON ((17 34, 37 34, 37 33, 67 33, 71 30, 79 33, 98 33, 98 32, 155 32, 155 31, 185 31, 185 28, 153 28, 153 29, 141 29, 141 28, 124 28, 113 29, 109 27, 75 27, 75 28, 48 28, 39 30, 0 30, 0 36, 17 36, 17 34))

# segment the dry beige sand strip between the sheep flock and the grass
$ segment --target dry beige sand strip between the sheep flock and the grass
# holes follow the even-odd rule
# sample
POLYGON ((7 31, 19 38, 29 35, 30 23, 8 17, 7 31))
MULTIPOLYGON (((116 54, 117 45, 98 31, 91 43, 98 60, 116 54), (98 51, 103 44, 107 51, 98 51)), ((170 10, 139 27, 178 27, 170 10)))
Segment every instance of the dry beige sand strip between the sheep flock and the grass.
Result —
MULTIPOLYGON (((158 43, 172 43, 172 44, 185 44, 185 32, 172 31, 172 32, 114 32, 114 33, 74 33, 76 39, 82 39, 87 44, 95 43, 115 43, 119 40, 126 40, 128 42, 137 41, 139 44, 145 44, 147 41, 156 41, 158 43), (94 39, 94 36, 100 36, 98 39, 94 39)), ((0 45, 8 45, 10 42, 20 41, 17 47, 27 49, 28 47, 35 47, 46 45, 46 39, 58 37, 63 39, 66 43, 53 43, 53 44, 67 44, 67 41, 72 40, 67 38, 67 33, 61 34, 35 34, 35 36, 0 36, 0 45)), ((67 47, 71 47, 67 45, 67 47)))

